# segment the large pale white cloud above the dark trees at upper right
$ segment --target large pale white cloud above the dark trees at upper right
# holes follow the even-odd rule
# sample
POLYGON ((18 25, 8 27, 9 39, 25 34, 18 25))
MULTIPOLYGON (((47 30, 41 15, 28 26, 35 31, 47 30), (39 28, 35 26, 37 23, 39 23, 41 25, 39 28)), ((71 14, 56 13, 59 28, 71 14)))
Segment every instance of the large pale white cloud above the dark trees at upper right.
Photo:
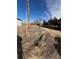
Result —
POLYGON ((54 16, 56 16, 57 18, 60 18, 61 17, 61 0, 44 0, 44 1, 47 8, 46 12, 49 12, 52 18, 54 16))

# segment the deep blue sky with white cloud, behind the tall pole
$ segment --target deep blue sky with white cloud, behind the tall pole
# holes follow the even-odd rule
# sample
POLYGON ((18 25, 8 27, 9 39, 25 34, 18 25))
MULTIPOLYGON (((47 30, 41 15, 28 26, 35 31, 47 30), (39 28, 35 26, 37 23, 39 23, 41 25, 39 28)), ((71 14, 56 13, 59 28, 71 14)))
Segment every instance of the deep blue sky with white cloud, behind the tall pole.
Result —
MULTIPOLYGON (((26 0, 17 0, 17 17, 27 21, 26 0)), ((30 0, 30 22, 61 17, 61 0, 30 0)))

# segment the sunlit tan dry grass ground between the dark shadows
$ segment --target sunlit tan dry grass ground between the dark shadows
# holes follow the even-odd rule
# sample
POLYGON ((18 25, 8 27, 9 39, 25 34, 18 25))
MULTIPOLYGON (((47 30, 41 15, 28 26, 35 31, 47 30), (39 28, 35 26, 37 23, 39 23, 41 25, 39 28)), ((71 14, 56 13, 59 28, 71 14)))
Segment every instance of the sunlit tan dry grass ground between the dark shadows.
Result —
POLYGON ((60 36, 59 31, 39 28, 36 25, 32 25, 29 30, 25 29, 26 27, 19 27, 17 31, 23 38, 25 59, 60 59, 54 47, 54 37, 60 36))

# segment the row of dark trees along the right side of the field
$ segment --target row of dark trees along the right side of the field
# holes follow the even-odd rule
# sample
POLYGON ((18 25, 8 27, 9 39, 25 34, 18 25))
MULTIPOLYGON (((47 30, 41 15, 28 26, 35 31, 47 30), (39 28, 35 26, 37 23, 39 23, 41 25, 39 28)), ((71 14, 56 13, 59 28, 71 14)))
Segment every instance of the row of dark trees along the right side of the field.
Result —
POLYGON ((50 18, 47 22, 43 20, 43 27, 61 30, 61 18, 60 19, 56 17, 50 18))

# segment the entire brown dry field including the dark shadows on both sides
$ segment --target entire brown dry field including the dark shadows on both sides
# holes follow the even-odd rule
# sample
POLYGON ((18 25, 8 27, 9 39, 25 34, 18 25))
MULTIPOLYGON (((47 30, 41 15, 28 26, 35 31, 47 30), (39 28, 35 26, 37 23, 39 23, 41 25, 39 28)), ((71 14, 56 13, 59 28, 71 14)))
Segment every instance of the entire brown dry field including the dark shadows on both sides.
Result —
POLYGON ((18 59, 60 59, 61 32, 30 25, 17 28, 18 59))

